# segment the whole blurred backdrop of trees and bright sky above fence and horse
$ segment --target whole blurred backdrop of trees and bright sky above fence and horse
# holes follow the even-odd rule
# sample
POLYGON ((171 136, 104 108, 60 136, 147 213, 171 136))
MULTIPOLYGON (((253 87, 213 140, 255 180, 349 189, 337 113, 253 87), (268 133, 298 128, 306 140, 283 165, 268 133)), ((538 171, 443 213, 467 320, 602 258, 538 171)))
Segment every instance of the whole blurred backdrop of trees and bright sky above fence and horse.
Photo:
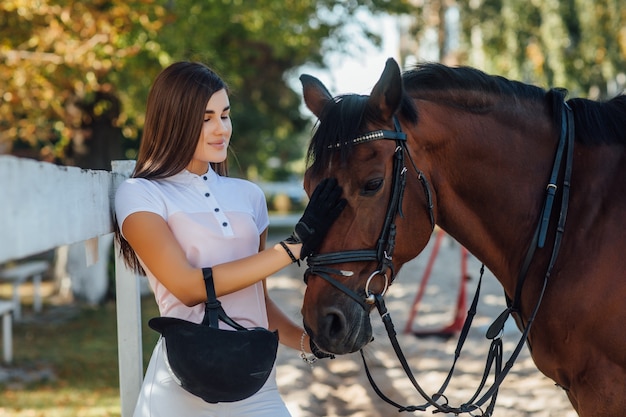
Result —
POLYGON ((0 153, 84 168, 133 159, 148 88, 199 60, 232 89, 233 174, 300 178, 297 77, 369 93, 384 60, 471 65, 605 98, 626 84, 621 0, 3 0, 0 153))

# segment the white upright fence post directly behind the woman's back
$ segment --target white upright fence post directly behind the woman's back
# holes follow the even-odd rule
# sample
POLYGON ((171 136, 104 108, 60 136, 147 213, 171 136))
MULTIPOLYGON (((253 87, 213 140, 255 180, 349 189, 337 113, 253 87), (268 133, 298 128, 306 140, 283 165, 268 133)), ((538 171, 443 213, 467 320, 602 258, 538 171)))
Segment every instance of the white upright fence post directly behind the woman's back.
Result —
MULTIPOLYGON (((122 174, 118 175, 121 178, 120 182, 130 176, 134 164, 135 161, 111 163, 113 173, 122 174)), ((119 183, 113 190, 117 189, 117 185, 119 183)), ((115 242, 115 298, 121 410, 122 417, 131 417, 143 381, 141 290, 139 277, 124 264, 117 242, 115 242)))

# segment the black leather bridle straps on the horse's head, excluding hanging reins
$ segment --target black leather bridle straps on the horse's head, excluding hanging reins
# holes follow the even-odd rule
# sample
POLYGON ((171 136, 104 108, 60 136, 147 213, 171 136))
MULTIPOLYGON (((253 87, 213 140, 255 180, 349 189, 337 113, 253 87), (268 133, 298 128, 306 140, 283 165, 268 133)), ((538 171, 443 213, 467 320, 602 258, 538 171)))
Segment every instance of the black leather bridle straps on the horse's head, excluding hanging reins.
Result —
MULTIPOLYGON (((396 116, 393 117, 393 124, 395 130, 376 130, 365 135, 359 136, 350 141, 353 145, 358 145, 365 142, 371 142, 373 140, 393 140, 396 142, 396 149, 393 156, 393 176, 391 183, 391 196, 389 198, 389 204, 387 205, 387 213, 385 214, 385 221, 383 223, 380 237, 378 238, 376 248, 374 249, 358 249, 341 252, 330 252, 322 254, 313 254, 307 258, 308 268, 304 273, 304 280, 307 282, 308 276, 313 274, 317 275, 330 284, 337 287, 339 290, 350 296, 356 301, 365 311, 371 309, 375 303, 375 295, 370 291, 370 284, 372 280, 381 276, 384 280, 383 290, 380 295, 383 296, 387 291, 390 283, 395 277, 395 271, 393 267, 393 251, 396 245, 396 218, 398 216, 404 217, 402 213, 402 199, 404 196, 404 189, 406 187, 406 166, 404 164, 404 156, 407 154, 413 168, 417 172, 418 179, 422 183, 424 194, 426 195, 426 204, 428 214, 430 216, 430 223, 432 229, 435 227, 435 218, 433 214, 433 203, 430 192, 430 186, 423 173, 417 169, 411 155, 408 153, 406 146, 406 133, 402 132, 400 122, 396 116), (365 284, 364 293, 358 294, 351 290, 339 280, 333 278, 332 275, 339 276, 352 276, 352 271, 345 271, 330 268, 327 265, 333 265, 338 263, 348 262, 377 262, 378 267, 371 273, 365 284), (387 275, 387 271, 390 271, 391 277, 387 275)), ((340 148, 341 146, 348 145, 350 142, 338 142, 331 146, 332 149, 340 148)), ((432 232, 431 229, 431 232, 432 232)))

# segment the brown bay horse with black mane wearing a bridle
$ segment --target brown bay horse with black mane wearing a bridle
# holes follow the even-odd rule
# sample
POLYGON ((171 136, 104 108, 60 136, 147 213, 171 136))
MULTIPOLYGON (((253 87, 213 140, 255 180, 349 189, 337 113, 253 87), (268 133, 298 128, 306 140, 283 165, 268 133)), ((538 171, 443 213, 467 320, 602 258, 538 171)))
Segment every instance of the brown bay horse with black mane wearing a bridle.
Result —
POLYGON ((319 119, 305 188, 334 176, 348 200, 306 273, 317 345, 344 354, 371 340, 372 301, 436 223, 498 278, 503 317, 532 324, 538 369, 578 414, 626 414, 626 96, 565 102, 471 68, 401 73, 391 59, 369 96, 300 79, 319 119))

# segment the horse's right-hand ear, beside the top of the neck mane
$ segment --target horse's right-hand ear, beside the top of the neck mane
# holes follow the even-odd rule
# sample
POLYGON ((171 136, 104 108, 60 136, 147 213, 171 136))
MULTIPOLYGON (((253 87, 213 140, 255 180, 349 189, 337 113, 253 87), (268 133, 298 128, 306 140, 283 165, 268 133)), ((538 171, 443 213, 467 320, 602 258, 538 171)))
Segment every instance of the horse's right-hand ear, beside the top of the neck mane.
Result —
POLYGON ((389 58, 382 75, 372 89, 367 105, 372 109, 377 109, 378 112, 375 113, 380 113, 383 120, 390 120, 400 107, 402 94, 400 67, 393 58, 389 58))

